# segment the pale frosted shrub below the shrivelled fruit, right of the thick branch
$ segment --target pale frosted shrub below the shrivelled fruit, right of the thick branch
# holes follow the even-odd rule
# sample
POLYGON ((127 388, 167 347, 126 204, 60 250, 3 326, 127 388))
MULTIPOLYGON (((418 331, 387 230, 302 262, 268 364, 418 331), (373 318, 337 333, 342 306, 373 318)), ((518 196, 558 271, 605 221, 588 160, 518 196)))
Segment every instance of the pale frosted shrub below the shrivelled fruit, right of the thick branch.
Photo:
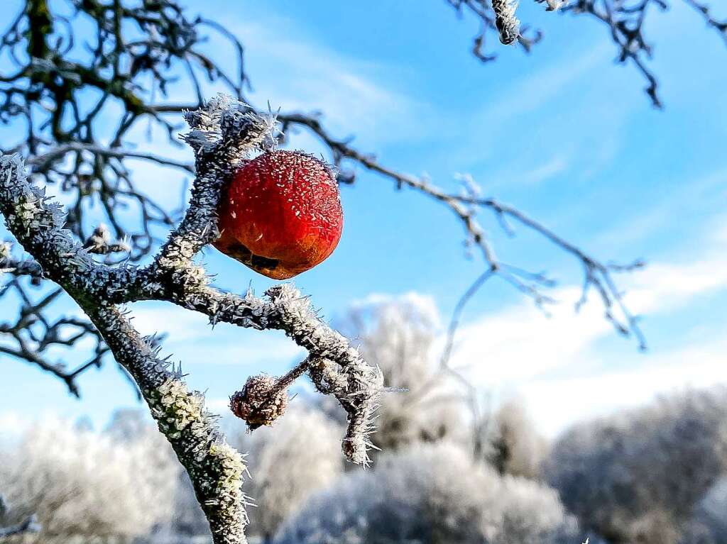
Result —
POLYGON ((342 472, 342 429, 318 410, 289 410, 239 441, 249 452, 245 493, 250 534, 269 538, 288 516, 342 472))

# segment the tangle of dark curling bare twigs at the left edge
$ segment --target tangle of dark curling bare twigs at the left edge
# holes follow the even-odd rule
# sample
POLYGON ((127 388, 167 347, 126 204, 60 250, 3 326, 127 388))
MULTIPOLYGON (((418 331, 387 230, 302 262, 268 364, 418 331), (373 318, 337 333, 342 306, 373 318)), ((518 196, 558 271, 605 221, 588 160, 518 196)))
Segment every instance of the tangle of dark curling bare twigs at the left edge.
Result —
MULTIPOLYGON (((169 142, 179 145, 177 127, 151 104, 157 95, 164 97, 166 86, 177 79, 177 62, 193 67, 188 77, 196 86, 198 78, 217 78, 222 70, 198 51, 204 40, 198 28, 206 23, 186 17, 174 0, 155 1, 143 9, 125 1, 67 3, 76 18, 58 15, 57 6, 49 5, 48 0, 26 0, 0 36, 0 53, 8 60, 0 73, 0 123, 17 127, 8 133, 12 143, 3 142, 4 153, 28 156, 36 182, 57 187, 71 201, 65 228, 77 240, 87 242, 89 251, 103 256, 106 264, 139 261, 161 242, 154 234, 156 227, 168 230, 180 214, 167 211, 169 202, 158 203, 140 190, 129 164, 147 161, 183 174, 193 174, 194 168, 190 163, 134 150, 125 140, 140 122, 148 121, 149 126, 165 131, 169 142), (84 31, 88 58, 81 62, 71 49, 78 41, 74 36, 76 23, 84 17, 95 27, 84 31), (127 28, 135 30, 122 33, 127 28), (89 89, 93 90, 90 94, 86 92, 89 89), (97 216, 90 215, 94 209, 103 215, 101 221, 108 224, 108 233, 90 232, 99 224, 97 216)), ((208 26, 212 32, 222 31, 208 26)), ((241 54, 236 38, 226 31, 222 35, 233 41, 241 54)), ((240 90, 245 80, 241 70, 236 84, 240 90)), ((56 375, 78 396, 74 378, 82 369, 100 364, 100 355, 107 351, 103 340, 89 322, 76 327, 64 322, 62 314, 50 306, 42 310, 33 306, 28 289, 52 290, 37 262, 8 256, 0 259, 0 270, 8 272, 6 277, 32 278, 30 287, 22 281, 7 283, 4 291, 0 286, 0 296, 14 293, 21 300, 21 317, 3 322, 8 312, 0 318, 4 354, 56 375), (22 315, 30 318, 23 319, 22 315), (39 328, 44 330, 39 332, 39 328), (95 357, 81 365, 79 372, 66 370, 63 362, 48 360, 44 353, 49 346, 72 349, 75 344, 57 341, 68 335, 76 341, 86 336, 97 342, 95 357)))

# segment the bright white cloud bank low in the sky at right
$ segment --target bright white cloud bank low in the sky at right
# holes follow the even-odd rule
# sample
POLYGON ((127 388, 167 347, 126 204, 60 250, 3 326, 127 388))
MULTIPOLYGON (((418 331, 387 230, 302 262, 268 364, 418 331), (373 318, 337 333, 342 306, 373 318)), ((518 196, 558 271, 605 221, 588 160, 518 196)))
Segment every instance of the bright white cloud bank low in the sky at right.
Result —
MULTIPOLYGON (((727 293, 727 228, 696 240, 678 259, 650 264, 619 278, 624 300, 637 314, 681 322, 670 348, 658 344, 647 354, 619 339, 604 320, 596 293, 580 312, 579 285, 558 289, 561 301, 546 317, 523 299, 462 326, 451 364, 496 399, 525 399, 539 428, 554 435, 570 423, 619 407, 647 402, 656 394, 685 386, 727 382, 727 339, 690 325, 688 317, 705 298, 727 293)), ((438 325, 433 354, 445 342, 435 301, 422 293, 373 293, 353 301, 353 309, 409 304, 438 325)), ((658 334, 656 336, 659 336, 658 334)))

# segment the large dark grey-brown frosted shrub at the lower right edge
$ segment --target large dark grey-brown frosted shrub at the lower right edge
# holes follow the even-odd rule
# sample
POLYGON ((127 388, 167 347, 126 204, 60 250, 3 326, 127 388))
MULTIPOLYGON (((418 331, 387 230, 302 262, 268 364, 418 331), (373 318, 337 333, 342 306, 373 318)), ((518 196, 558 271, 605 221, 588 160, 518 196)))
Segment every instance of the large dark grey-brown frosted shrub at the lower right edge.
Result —
POLYGON ((583 527, 614 543, 677 543, 727 469, 725 421, 719 387, 583 423, 555 444, 547 480, 583 527))

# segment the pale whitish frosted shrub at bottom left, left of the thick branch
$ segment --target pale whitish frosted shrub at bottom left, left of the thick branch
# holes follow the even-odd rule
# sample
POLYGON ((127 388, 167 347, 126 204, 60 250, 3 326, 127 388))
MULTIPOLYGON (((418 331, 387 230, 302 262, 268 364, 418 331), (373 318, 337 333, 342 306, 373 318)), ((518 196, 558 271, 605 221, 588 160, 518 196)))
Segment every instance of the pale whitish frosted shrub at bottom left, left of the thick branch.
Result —
POLYGON ((0 490, 43 527, 24 542, 39 543, 146 535, 169 517, 179 470, 152 427, 121 441, 67 421, 28 429, 0 464, 0 490))

